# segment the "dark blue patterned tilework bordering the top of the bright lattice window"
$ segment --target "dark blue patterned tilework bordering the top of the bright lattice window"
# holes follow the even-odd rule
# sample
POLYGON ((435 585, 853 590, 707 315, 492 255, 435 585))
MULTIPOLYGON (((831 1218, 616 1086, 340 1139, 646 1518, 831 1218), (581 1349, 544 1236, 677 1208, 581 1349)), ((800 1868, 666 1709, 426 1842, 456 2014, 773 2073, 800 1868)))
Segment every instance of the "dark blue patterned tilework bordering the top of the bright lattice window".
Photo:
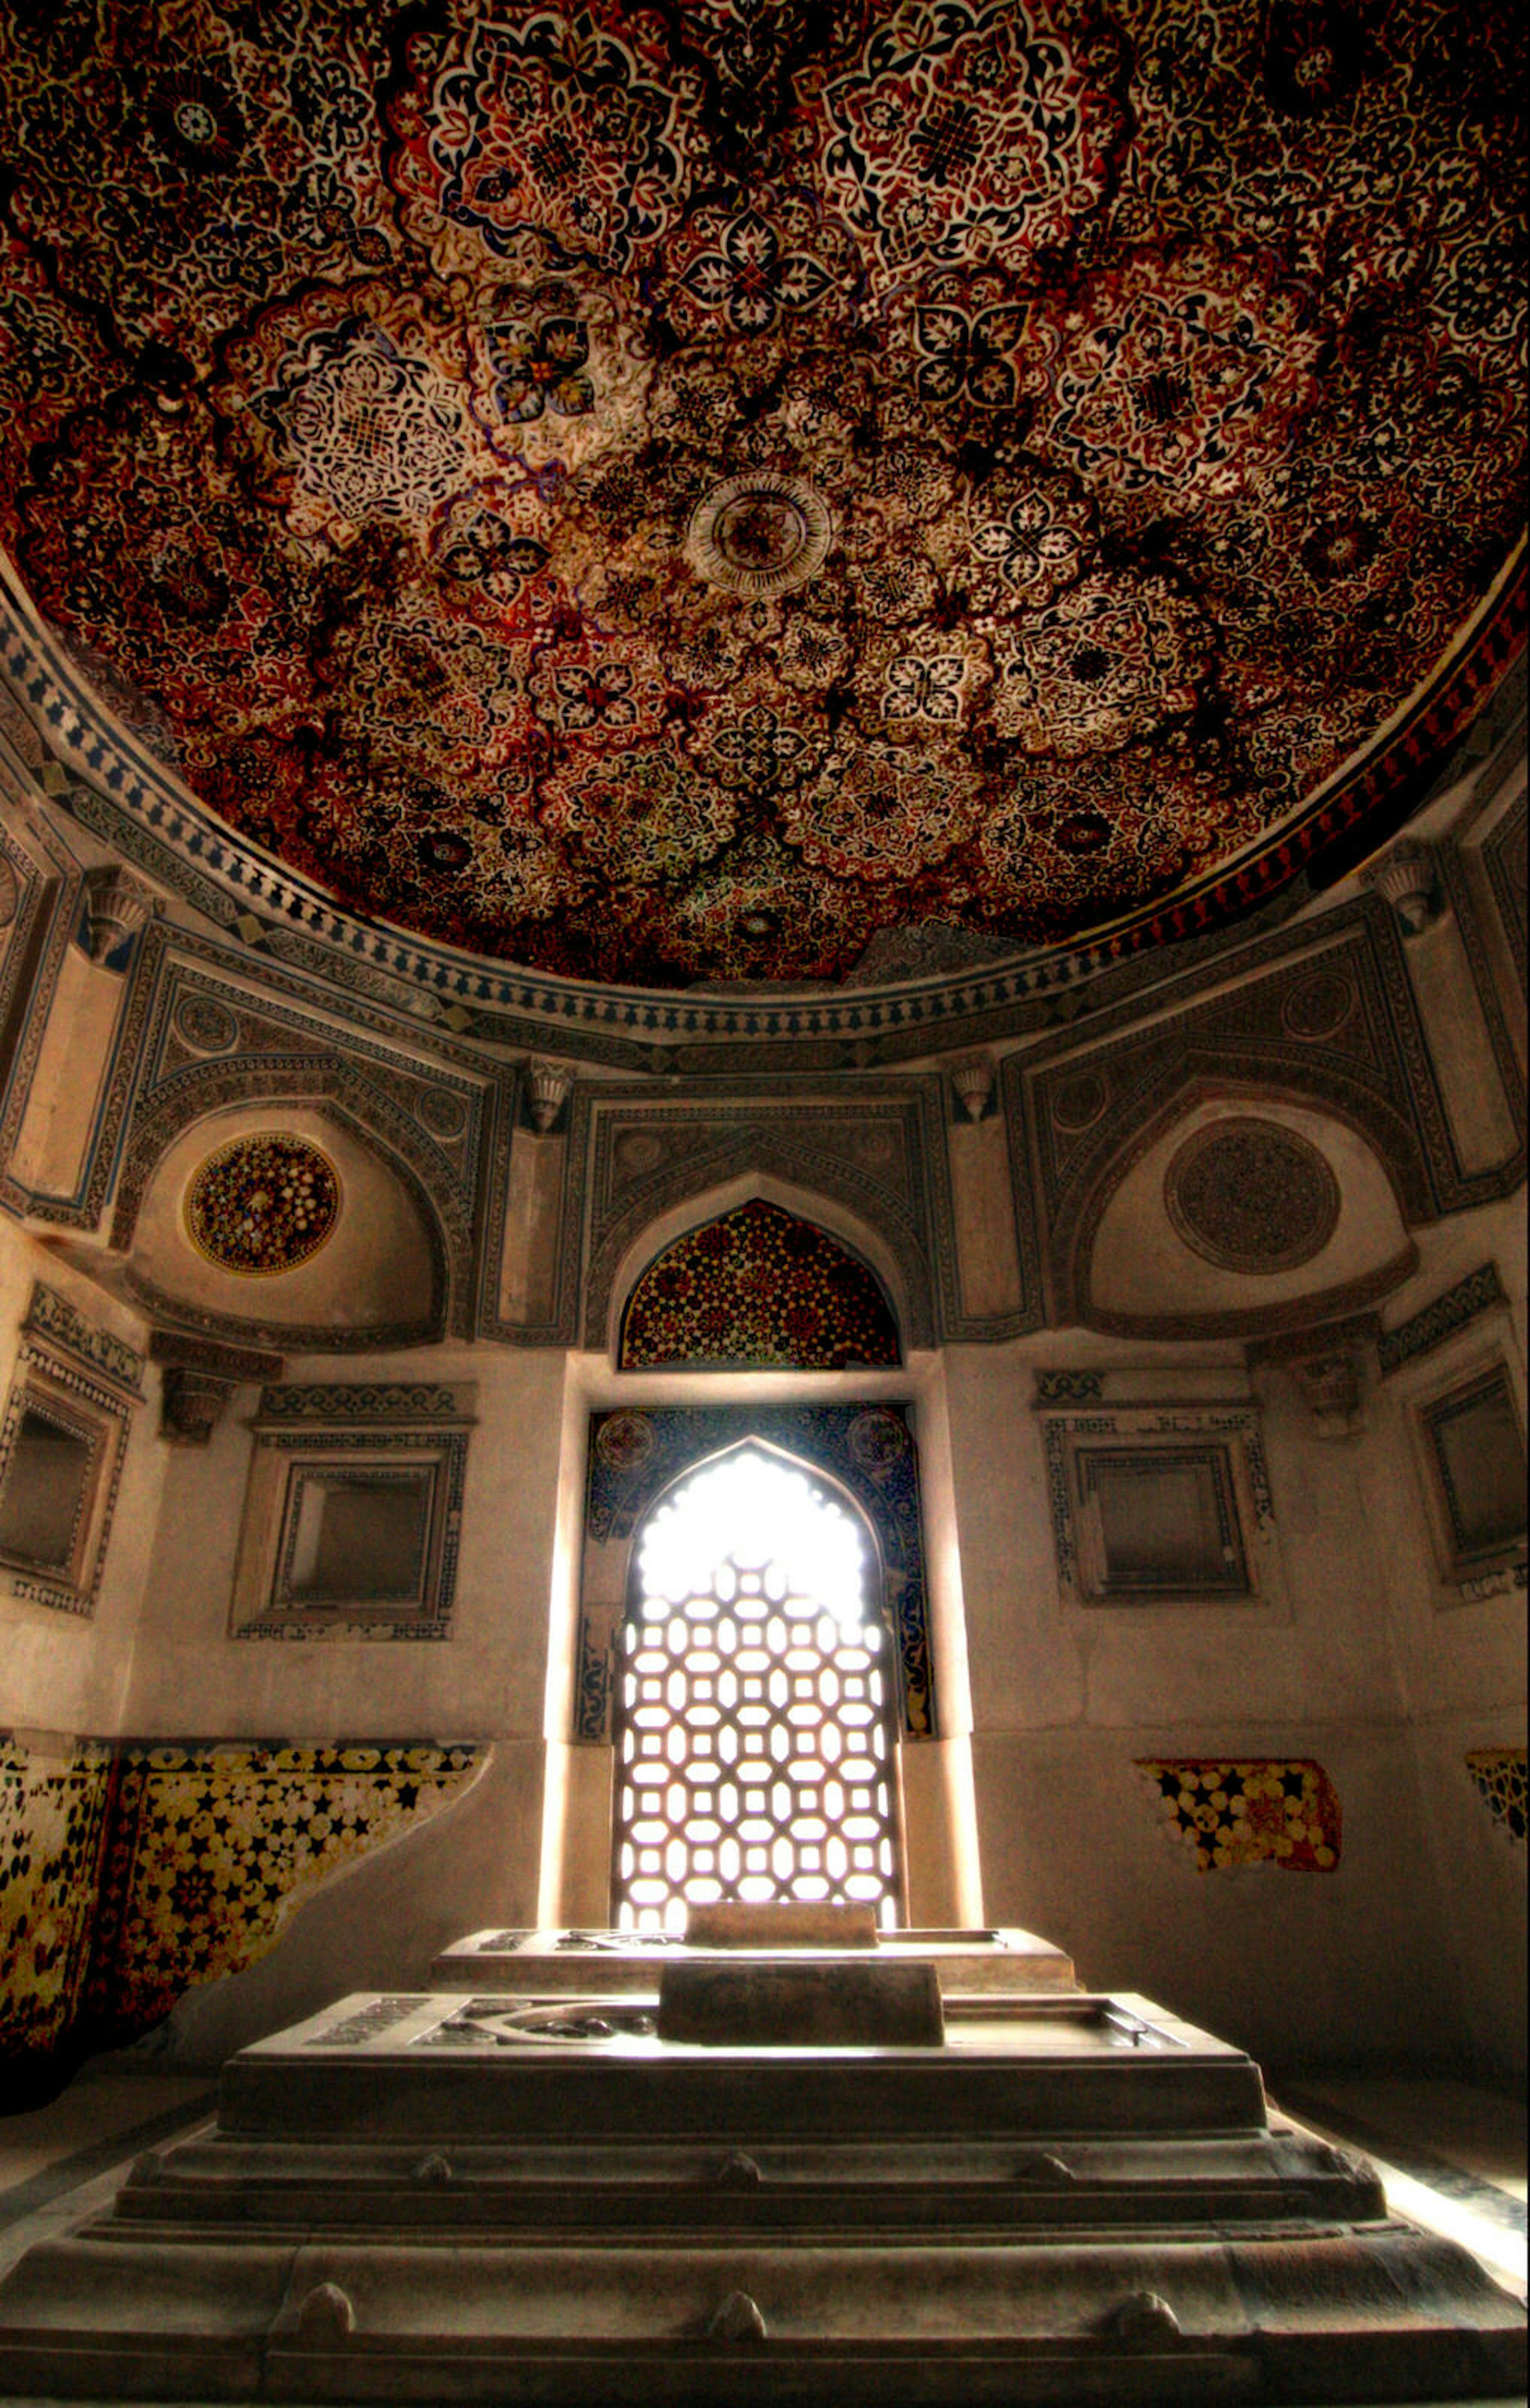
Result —
MULTIPOLYGON (((871 1522, 883 1556, 883 1611, 902 1736, 936 1739, 936 1686, 924 1589, 919 1452, 907 1404, 657 1406, 594 1413, 585 1536, 633 1539, 654 1500, 693 1464, 758 1438, 811 1471, 825 1471, 871 1522)), ((585 1613, 575 1688, 575 1741, 611 1736, 616 1628, 585 1613)))

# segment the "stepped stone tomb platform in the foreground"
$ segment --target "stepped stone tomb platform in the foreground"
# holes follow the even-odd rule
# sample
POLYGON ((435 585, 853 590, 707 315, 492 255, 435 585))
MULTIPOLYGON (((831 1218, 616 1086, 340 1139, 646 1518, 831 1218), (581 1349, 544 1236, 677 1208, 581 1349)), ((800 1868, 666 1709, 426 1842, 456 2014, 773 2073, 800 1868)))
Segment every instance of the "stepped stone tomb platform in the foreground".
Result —
POLYGON ((1518 2302, 1148 1999, 945 1987, 1003 1936, 724 1919, 657 1979, 556 1938, 582 1989, 363 1991, 233 2056, 217 2124, 0 2283, 0 2394, 1523 2394, 1518 2302))

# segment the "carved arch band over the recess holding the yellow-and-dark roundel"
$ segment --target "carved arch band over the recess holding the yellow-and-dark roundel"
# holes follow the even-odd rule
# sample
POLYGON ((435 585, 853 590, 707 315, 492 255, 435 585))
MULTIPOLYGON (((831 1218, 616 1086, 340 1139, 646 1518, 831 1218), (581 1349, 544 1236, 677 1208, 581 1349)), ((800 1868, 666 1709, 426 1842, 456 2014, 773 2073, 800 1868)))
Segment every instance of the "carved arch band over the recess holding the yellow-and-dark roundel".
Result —
POLYGON ((176 1072, 132 1120, 111 1226, 113 1247, 123 1255, 132 1250, 149 1180, 185 1129, 231 1108, 269 1110, 291 1103, 315 1105, 370 1146, 414 1202, 433 1271, 431 1315, 414 1336, 472 1336, 472 1218, 457 1182, 409 1115, 380 1086, 337 1060, 243 1057, 195 1062, 176 1072))

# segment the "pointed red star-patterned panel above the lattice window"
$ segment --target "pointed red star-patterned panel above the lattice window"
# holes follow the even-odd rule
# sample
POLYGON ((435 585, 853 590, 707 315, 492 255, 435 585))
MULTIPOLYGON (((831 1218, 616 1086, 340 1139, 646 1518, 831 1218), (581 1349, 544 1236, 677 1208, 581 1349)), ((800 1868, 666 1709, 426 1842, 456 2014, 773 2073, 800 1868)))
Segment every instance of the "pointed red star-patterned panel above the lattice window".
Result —
POLYGON ((900 1361, 876 1276, 828 1230, 751 1197, 676 1238, 621 1317, 621 1370, 856 1370, 900 1361))

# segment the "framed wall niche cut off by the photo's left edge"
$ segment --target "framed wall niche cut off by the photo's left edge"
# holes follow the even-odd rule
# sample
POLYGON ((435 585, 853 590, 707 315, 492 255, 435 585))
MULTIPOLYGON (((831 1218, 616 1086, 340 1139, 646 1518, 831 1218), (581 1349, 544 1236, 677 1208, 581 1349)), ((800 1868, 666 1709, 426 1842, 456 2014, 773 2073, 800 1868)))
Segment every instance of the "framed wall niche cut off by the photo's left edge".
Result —
POLYGON ((142 1356, 41 1281, 0 1423, 0 1563, 12 1594, 89 1616, 142 1356))

